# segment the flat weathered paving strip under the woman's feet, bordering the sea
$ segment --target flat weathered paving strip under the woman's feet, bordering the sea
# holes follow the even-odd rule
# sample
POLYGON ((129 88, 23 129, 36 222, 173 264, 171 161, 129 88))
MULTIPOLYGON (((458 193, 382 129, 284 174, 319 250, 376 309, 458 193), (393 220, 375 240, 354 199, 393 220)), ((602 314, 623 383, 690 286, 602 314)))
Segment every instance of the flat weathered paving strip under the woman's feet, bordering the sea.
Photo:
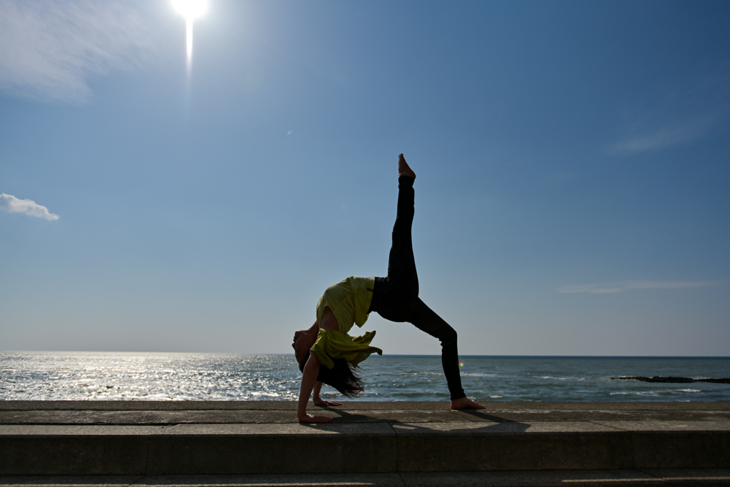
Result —
MULTIPOLYGON (((345 402, 310 412, 337 423, 730 421, 730 402, 345 402)), ((0 401, 0 424, 297 423, 291 401, 0 401)))

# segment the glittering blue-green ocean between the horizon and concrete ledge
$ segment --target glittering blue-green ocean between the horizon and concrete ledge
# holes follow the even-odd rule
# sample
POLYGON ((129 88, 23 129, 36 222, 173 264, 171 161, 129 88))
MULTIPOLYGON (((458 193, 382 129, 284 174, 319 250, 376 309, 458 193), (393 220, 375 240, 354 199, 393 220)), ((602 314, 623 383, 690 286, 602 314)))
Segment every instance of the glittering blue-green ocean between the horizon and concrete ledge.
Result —
MULTIPOLYGON (((439 356, 372 356, 366 401, 447 401, 439 356)), ((480 401, 730 401, 727 383, 613 377, 730 377, 730 358, 461 356, 480 401)), ((0 352, 0 400, 295 400, 293 354, 0 352)), ((326 399, 342 399, 323 388, 326 399)))

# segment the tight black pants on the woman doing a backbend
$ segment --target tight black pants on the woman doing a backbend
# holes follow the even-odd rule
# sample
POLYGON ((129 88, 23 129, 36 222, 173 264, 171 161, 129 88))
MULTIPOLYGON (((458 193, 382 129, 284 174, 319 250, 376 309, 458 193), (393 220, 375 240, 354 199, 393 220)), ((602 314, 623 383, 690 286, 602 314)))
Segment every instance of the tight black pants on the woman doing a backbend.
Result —
POLYGON ((441 341, 441 365, 451 399, 466 397, 458 371, 456 330, 418 297, 418 274, 413 258, 413 179, 398 178, 398 212, 388 256, 388 277, 375 277, 370 310, 386 320, 407 321, 441 341))

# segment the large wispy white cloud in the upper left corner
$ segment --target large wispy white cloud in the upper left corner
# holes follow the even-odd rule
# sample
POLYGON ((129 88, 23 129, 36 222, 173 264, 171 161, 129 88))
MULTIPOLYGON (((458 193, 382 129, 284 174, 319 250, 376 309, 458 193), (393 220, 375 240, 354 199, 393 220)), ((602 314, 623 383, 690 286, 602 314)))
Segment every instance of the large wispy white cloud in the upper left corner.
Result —
POLYGON ((88 80, 128 69, 153 50, 150 28, 118 0, 0 0, 0 90, 82 103, 88 80))

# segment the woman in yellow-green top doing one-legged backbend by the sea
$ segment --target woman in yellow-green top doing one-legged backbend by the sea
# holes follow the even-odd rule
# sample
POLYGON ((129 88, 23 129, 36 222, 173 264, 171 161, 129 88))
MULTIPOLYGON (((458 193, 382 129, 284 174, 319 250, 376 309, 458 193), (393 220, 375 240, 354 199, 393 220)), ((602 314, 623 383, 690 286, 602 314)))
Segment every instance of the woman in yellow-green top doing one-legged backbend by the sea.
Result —
POLYGON ((355 367, 380 348, 370 346, 375 332, 352 338, 353 324, 363 326, 375 311, 390 321, 407 321, 441 341, 441 364, 451 395, 451 409, 483 409, 468 399, 461 388, 456 350, 456 331, 418 298, 418 275, 413 258, 413 182, 415 173, 403 154, 398 156, 398 212, 393 225, 393 244, 388 257, 388 277, 347 277, 327 288, 317 304, 317 321, 310 329, 294 333, 292 347, 302 372, 297 416, 301 423, 325 423, 332 418, 307 414, 307 402, 314 391, 314 404, 339 406, 320 399, 326 383, 345 396, 363 390, 355 367))

